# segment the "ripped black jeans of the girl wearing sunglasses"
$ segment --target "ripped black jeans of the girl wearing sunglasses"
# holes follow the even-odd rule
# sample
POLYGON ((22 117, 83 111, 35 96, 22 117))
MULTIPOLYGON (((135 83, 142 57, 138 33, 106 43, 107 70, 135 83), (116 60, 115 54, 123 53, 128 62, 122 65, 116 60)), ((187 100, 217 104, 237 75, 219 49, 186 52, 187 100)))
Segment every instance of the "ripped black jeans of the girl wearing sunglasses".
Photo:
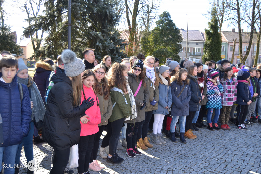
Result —
POLYGON ((126 142, 128 149, 134 148, 137 142, 137 134, 138 134, 138 123, 127 123, 127 130, 126 130, 126 142))

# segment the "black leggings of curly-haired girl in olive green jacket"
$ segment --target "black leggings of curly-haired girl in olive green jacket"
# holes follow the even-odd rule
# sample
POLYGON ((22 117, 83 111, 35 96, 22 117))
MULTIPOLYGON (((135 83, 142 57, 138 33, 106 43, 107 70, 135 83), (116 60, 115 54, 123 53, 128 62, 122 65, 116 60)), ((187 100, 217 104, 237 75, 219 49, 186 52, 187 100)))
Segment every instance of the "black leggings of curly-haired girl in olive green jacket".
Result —
POLYGON ((113 155, 117 152, 118 139, 121 134, 121 128, 125 118, 115 120, 113 122, 108 121, 107 134, 103 138, 102 148, 109 145, 109 154, 113 155), (108 143, 109 142, 109 143, 108 143))

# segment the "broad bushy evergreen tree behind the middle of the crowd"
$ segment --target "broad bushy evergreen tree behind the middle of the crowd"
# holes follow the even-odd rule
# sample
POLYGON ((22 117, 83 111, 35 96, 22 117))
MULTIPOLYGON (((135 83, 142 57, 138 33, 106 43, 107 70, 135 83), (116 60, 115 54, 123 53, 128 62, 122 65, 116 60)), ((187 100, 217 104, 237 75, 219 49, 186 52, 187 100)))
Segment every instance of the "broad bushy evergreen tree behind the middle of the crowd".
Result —
POLYGON ((179 61, 178 53, 182 49, 182 36, 179 29, 171 20, 169 12, 164 11, 159 15, 156 27, 151 31, 151 35, 141 39, 141 48, 147 55, 157 57, 160 62, 164 62, 166 57, 172 57, 173 60, 179 61))

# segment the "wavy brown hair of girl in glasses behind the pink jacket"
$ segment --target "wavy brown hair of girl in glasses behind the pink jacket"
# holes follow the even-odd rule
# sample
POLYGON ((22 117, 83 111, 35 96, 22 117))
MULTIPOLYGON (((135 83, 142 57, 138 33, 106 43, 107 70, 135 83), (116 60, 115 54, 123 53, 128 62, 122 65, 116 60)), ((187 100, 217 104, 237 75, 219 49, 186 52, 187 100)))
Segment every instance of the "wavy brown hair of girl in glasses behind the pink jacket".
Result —
MULTIPOLYGON (((106 73, 106 68, 102 64, 96 65, 94 68, 92 68, 92 71, 95 73, 98 69, 102 68, 104 72, 106 73)), ((102 79, 103 84, 101 85, 98 80, 95 77, 95 82, 93 84, 94 91, 99 94, 100 96, 103 96, 104 100, 107 100, 110 96, 110 88, 108 86, 108 80, 106 76, 102 79), (103 90, 102 90, 103 87, 103 90)))

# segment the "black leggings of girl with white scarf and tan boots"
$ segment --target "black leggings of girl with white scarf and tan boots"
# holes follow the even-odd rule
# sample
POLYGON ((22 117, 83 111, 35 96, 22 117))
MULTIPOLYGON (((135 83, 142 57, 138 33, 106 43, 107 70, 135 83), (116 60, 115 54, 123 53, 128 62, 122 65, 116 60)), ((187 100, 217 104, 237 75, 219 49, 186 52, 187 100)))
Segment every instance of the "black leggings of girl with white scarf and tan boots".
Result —
POLYGON ((145 120, 141 121, 139 124, 138 134, 137 134, 137 140, 141 138, 144 140, 144 138, 148 135, 148 129, 149 129, 149 122, 152 117, 153 111, 145 112, 145 120))

